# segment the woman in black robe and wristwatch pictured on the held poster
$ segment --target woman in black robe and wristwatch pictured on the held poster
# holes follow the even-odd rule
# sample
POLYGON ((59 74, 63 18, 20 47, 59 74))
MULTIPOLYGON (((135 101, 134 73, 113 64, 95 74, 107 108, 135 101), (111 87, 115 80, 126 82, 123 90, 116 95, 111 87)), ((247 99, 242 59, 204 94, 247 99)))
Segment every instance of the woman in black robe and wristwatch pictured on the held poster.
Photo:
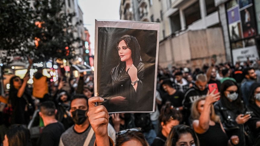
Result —
MULTIPOLYGON (((136 110, 135 107, 138 106, 134 105, 140 104, 140 94, 143 87, 141 79, 144 76, 140 45, 134 36, 124 35, 116 42, 116 48, 119 64, 111 71, 113 91, 112 95, 108 94, 104 97, 108 97, 109 104, 116 105, 109 106, 109 108, 122 107, 125 109, 126 105, 131 105, 131 110, 136 110)), ((130 110, 129 107, 127 106, 128 110, 130 110)))

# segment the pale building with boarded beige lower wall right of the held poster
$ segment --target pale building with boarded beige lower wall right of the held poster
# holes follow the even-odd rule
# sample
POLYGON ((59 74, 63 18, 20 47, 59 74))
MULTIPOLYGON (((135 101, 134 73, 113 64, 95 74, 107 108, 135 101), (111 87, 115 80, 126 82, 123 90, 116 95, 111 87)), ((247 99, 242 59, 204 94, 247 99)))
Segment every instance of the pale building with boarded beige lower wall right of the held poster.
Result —
POLYGON ((158 63, 162 67, 201 68, 212 57, 217 63, 226 62, 214 0, 122 0, 121 19, 126 12, 131 13, 130 20, 160 22, 158 63))

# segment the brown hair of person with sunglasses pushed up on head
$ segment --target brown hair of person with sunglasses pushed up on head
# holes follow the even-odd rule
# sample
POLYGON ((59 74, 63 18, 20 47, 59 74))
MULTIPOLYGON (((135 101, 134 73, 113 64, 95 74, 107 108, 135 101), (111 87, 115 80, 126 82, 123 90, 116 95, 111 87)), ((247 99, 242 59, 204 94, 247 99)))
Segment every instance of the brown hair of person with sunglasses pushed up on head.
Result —
POLYGON ((130 140, 136 140, 141 142, 143 146, 148 146, 144 134, 140 131, 128 131, 125 134, 117 135, 116 146, 121 146, 123 143, 130 140))

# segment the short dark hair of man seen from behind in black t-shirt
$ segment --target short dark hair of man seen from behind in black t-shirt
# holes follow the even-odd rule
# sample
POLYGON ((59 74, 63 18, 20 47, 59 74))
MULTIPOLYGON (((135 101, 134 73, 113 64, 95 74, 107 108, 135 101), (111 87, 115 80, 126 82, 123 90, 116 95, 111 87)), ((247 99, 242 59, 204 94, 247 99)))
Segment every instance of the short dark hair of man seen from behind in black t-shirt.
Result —
POLYGON ((40 105, 40 112, 45 116, 53 116, 55 115, 55 104, 53 101, 44 101, 40 105))

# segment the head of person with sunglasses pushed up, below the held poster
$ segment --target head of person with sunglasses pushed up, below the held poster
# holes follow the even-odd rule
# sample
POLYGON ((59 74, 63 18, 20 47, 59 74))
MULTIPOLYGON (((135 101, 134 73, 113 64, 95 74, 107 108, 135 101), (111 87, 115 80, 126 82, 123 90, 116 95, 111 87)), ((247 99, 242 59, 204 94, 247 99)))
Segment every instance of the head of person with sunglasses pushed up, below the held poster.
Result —
POLYGON ((141 130, 138 127, 120 130, 116 133, 116 146, 149 146, 141 130))

